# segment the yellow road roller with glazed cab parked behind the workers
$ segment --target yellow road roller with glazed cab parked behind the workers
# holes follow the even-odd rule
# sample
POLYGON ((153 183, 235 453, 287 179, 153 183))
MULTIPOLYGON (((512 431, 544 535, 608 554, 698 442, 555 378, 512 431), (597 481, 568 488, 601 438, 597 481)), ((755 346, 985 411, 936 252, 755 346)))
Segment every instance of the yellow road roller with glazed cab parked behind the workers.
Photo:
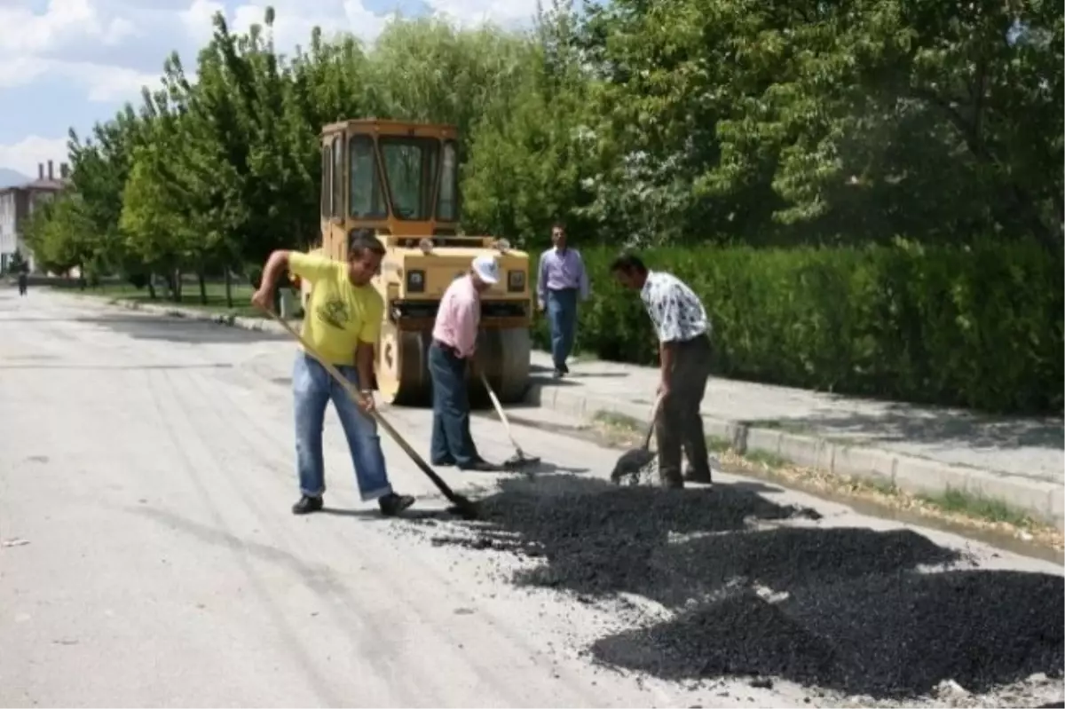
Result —
MULTIPOLYGON (((347 258, 347 234, 374 229, 388 253, 374 286, 384 298, 376 389, 397 405, 431 400, 428 347, 444 291, 477 255, 493 253, 505 277, 481 296, 473 398, 482 370, 503 402, 528 386, 532 300, 528 253, 504 240, 459 231, 458 131, 453 126, 374 118, 322 130, 322 244, 347 258)), ((304 303, 309 283, 301 283, 304 303)))

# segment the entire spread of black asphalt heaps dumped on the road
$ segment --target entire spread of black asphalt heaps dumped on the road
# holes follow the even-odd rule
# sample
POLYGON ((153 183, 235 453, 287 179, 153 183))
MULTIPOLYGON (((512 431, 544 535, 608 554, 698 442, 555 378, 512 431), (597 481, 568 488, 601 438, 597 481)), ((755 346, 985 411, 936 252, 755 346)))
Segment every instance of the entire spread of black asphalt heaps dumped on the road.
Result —
POLYGON ((569 480, 563 494, 511 481, 480 502, 472 535, 435 543, 539 560, 519 584, 627 592, 676 612, 596 641, 604 664, 666 679, 781 677, 881 698, 924 695, 946 679, 985 692, 1065 671, 1063 578, 957 571, 956 551, 908 530, 797 525, 819 515, 777 505, 757 484, 569 480))

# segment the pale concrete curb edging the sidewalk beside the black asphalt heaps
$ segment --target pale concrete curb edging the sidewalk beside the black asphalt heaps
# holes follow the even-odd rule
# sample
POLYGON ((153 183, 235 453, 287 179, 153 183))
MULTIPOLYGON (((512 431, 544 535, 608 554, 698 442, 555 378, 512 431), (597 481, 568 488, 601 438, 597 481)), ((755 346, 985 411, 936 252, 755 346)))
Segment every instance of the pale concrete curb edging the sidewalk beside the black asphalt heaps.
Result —
MULTIPOLYGON (((590 419, 601 411, 648 421, 650 406, 606 397, 587 396, 570 384, 534 384, 525 395, 528 403, 590 419), (577 391, 574 391, 577 390, 577 391)), ((760 452, 794 465, 813 467, 840 477, 875 484, 890 484, 914 495, 938 495, 961 491, 997 499, 1033 518, 1065 531, 1065 488, 1019 475, 977 467, 951 465, 882 448, 849 446, 809 435, 703 416, 706 434, 727 441, 740 454, 760 452)))

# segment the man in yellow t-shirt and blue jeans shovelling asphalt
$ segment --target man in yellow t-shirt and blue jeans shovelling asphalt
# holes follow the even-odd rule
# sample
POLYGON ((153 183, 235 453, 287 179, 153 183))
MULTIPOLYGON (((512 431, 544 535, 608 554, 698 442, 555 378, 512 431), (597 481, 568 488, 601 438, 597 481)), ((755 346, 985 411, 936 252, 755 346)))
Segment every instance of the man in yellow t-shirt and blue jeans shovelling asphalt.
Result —
POLYGON ((361 392, 360 400, 353 401, 313 357, 304 352, 296 357, 292 389, 301 497, 292 507, 293 513, 307 514, 322 509, 326 489, 322 427, 326 406, 332 400, 351 450, 362 499, 376 499, 383 514, 395 515, 413 505, 414 498, 392 490, 377 424, 368 415, 374 408, 371 390, 374 347, 384 314, 381 296, 370 280, 380 269, 384 246, 371 230, 353 230, 347 253, 348 261, 342 262, 322 254, 274 251, 266 261, 262 284, 251 296, 251 302, 260 308, 272 307, 274 288, 285 269, 311 283, 311 296, 304 315, 304 337, 322 359, 334 365, 361 392))

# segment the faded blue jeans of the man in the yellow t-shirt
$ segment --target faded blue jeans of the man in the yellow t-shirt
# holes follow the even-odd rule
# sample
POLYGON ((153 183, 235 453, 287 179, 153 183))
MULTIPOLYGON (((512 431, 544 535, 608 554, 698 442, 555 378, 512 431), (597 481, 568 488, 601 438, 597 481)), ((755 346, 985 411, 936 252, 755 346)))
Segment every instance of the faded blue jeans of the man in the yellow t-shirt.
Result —
MULTIPOLYGON (((337 369, 357 388, 359 373, 353 366, 337 369)), ((296 403, 296 465, 299 468, 299 491, 318 497, 326 491, 325 459, 322 454, 322 429, 326 406, 332 399, 344 436, 355 463, 355 479, 362 499, 371 500, 392 492, 384 468, 381 439, 377 422, 366 416, 344 388, 329 376, 314 358, 302 352, 296 356, 292 369, 292 392, 296 403)))

